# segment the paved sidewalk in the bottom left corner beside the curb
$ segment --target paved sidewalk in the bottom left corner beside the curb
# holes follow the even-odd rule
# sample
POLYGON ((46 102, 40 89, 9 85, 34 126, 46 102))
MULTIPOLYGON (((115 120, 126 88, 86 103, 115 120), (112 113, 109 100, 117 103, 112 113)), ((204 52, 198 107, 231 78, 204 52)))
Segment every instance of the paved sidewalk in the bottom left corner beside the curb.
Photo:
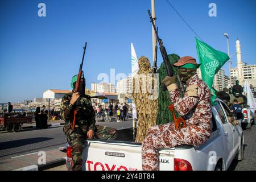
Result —
POLYGON ((31 153, 31 154, 26 154, 26 155, 20 155, 20 156, 15 156, 14 158, 6 159, 6 160, 1 160, 0 161, 0 171, 10 171, 10 170, 15 170, 19 169, 20 171, 23 171, 24 167, 32 166, 31 170, 44 170, 47 168, 51 168, 52 166, 59 164, 65 164, 65 157, 66 154, 65 152, 61 152, 58 149, 55 150, 49 150, 45 151, 46 152, 46 164, 38 164, 38 159, 42 155, 38 155, 38 152, 36 153, 31 153))

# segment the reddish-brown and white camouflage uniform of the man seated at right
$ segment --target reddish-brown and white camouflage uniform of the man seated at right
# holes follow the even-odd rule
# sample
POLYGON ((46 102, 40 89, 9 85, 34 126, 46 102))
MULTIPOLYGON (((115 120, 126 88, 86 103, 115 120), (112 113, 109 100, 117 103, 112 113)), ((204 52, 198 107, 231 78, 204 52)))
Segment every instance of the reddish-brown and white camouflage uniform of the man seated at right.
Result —
POLYGON ((186 82, 184 98, 179 90, 170 92, 176 111, 185 119, 187 127, 175 130, 174 123, 153 126, 142 143, 143 170, 159 169, 160 148, 171 148, 181 144, 199 146, 210 137, 211 105, 208 86, 197 75, 186 82))

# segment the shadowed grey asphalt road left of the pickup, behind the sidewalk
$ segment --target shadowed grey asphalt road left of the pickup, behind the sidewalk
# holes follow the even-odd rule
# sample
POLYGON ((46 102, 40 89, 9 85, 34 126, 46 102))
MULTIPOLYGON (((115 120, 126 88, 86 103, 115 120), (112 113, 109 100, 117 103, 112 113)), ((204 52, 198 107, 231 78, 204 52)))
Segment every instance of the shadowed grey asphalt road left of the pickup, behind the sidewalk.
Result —
MULTIPOLYGON (((97 122, 96 125, 104 125, 122 129, 132 126, 131 119, 123 122, 97 122)), ((0 160, 14 156, 31 154, 39 151, 53 150, 63 147, 67 139, 63 133, 63 126, 51 127, 43 130, 27 129, 19 133, 0 133, 0 160)))

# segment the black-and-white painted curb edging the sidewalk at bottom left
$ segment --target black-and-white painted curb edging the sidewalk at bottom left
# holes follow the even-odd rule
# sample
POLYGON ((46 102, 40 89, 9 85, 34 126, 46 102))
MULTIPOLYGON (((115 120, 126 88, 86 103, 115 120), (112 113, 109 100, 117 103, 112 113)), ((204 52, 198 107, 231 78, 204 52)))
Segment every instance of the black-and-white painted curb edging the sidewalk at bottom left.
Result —
POLYGON ((62 166, 66 164, 66 158, 51 160, 47 162, 46 164, 40 164, 40 165, 32 165, 32 166, 26 166, 19 169, 14 169, 13 171, 44 171, 46 169, 50 169, 57 166, 62 166))

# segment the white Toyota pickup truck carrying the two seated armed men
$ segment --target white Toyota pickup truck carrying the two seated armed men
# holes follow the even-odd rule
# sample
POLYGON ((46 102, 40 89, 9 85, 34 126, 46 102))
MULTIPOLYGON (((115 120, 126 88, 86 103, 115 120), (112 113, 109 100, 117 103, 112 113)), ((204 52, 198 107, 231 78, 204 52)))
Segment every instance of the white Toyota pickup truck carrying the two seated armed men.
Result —
MULTIPOLYGON (((171 171, 226 170, 233 159, 243 159, 243 131, 241 125, 232 125, 233 115, 221 100, 212 106, 212 133, 202 146, 176 146, 159 150, 159 169, 171 171)), ((131 134, 131 130, 127 130, 131 134)), ((119 137, 125 133, 120 133, 119 137)), ((130 135, 132 140, 132 135, 130 135)), ((127 139, 127 138, 126 138, 127 139)), ((142 170, 141 143, 85 140, 82 169, 89 171, 142 170)), ((67 150, 66 165, 71 170, 71 147, 67 150)))

